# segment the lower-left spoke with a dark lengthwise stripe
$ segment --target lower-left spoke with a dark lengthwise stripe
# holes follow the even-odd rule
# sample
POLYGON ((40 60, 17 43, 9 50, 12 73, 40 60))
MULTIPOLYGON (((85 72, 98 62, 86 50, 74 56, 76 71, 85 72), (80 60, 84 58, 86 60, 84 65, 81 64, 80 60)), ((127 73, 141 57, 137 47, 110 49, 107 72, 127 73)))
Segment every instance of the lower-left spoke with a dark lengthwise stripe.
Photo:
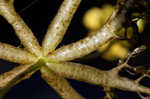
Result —
POLYGON ((7 91, 37 70, 34 64, 20 65, 9 72, 0 75, 0 93, 7 91))

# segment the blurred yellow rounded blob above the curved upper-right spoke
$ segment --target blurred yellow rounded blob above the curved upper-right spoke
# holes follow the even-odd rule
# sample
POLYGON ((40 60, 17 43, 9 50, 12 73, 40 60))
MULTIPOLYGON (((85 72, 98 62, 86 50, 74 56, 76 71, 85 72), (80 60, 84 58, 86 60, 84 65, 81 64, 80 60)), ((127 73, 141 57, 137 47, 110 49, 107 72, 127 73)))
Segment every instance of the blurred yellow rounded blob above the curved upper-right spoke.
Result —
POLYGON ((98 30, 105 24, 112 11, 112 5, 105 5, 102 8, 93 7, 85 12, 83 24, 91 31, 98 30))

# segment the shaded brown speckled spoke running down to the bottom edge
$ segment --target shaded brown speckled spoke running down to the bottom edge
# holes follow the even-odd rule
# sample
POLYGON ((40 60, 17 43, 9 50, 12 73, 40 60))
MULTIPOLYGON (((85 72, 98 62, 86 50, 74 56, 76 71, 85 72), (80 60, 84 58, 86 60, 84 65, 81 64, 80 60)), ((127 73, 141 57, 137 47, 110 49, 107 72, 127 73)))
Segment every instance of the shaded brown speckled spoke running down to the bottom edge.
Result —
POLYGON ((63 99, 84 99, 71 87, 67 80, 55 74, 47 67, 42 67, 41 73, 42 78, 50 85, 50 87, 54 88, 63 99))

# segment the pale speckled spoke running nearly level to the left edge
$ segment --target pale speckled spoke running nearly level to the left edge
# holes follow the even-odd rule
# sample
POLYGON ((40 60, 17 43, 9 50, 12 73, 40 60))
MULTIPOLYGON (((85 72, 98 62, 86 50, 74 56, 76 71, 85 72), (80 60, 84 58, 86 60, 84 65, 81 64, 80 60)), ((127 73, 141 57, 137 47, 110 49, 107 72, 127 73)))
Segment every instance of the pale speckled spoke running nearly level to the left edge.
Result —
POLYGON ((37 59, 31 53, 9 44, 0 43, 0 58, 16 63, 32 63, 37 59))

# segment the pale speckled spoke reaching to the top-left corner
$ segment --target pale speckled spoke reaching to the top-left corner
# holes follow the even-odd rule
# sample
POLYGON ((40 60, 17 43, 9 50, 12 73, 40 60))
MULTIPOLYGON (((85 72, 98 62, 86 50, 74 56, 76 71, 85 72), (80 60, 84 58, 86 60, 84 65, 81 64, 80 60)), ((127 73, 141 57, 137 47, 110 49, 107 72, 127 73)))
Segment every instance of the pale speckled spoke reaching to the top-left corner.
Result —
POLYGON ((31 29, 25 24, 23 19, 15 12, 13 3, 7 3, 1 0, 0 15, 2 15, 14 28, 21 43, 31 53, 41 56, 41 47, 33 35, 31 29))

